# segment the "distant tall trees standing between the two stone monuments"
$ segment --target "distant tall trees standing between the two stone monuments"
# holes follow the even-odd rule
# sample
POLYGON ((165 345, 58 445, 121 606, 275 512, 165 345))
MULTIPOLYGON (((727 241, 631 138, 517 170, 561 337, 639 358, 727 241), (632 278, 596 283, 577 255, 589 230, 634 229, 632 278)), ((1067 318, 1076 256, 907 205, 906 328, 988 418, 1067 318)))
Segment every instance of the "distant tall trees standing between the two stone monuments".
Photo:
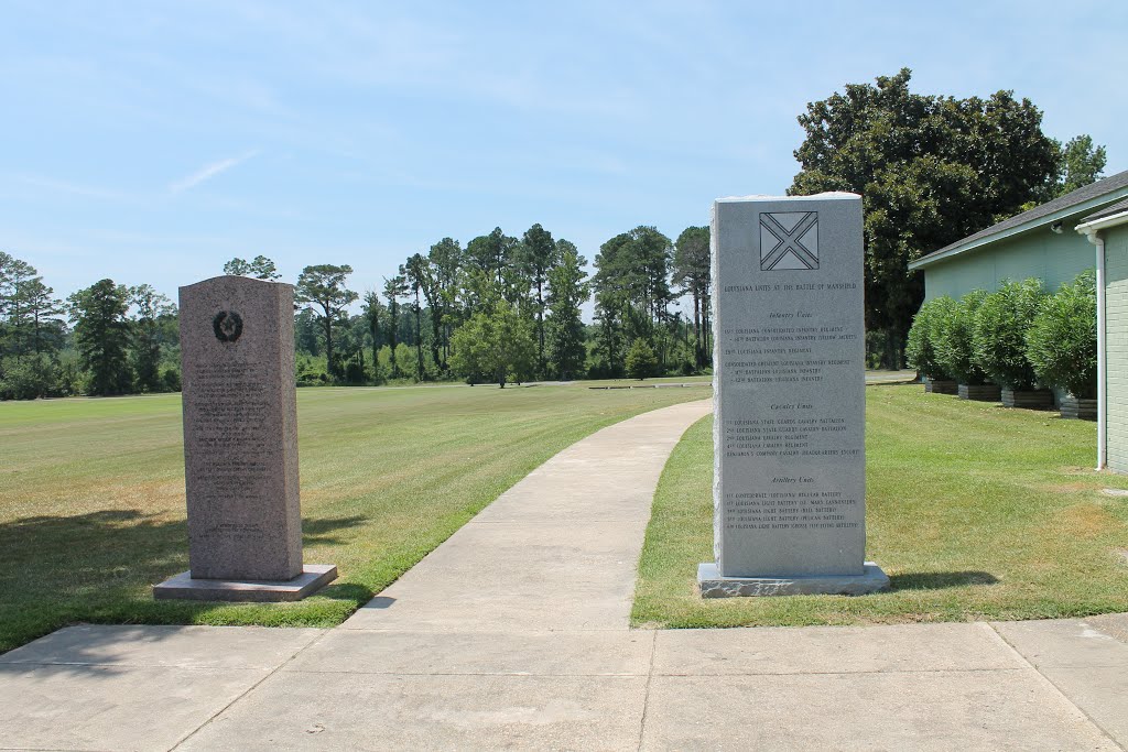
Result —
MULTIPOLYGON (((307 266, 296 285, 299 383, 503 387, 702 372, 711 363, 708 244, 703 227, 677 241, 638 227, 605 242, 589 276, 575 245, 540 224, 520 237, 499 227, 465 247, 442 238, 363 295, 349 287, 351 266, 307 266), (671 310, 682 295, 691 321, 671 310), (587 325, 581 310, 592 297, 596 322, 587 325), (350 313, 355 302, 360 312, 350 313)), ((262 276, 253 265, 233 259, 226 271, 262 276)))

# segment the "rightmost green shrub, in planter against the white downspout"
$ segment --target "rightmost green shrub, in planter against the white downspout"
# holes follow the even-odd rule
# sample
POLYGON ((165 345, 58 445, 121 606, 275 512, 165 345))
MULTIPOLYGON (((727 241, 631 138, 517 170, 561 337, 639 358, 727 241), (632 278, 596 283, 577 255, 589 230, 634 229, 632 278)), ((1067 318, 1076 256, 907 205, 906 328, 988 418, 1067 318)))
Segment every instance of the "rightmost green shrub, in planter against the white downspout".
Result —
POLYGON ((1042 300, 1026 331, 1026 357, 1047 387, 1096 396, 1096 280, 1083 272, 1042 300))

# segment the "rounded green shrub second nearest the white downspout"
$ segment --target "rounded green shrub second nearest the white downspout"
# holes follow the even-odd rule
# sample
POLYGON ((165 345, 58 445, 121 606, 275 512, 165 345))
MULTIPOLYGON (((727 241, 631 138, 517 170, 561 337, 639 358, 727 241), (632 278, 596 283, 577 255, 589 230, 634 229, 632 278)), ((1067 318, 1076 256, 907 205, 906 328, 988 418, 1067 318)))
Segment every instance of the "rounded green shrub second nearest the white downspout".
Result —
POLYGON ((1026 331, 1045 297, 1041 280, 1005 280, 976 309, 972 361, 992 381, 1006 389, 1034 386, 1034 369, 1026 360, 1026 331))

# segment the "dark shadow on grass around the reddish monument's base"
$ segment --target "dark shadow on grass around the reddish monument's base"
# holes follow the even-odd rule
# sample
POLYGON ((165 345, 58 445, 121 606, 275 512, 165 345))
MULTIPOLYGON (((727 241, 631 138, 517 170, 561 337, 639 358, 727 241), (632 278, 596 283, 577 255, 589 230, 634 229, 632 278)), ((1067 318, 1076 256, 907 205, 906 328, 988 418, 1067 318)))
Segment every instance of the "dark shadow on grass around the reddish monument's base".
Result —
MULTIPOLYGON (((306 520, 305 541, 342 542, 334 531, 364 521, 306 520)), ((136 510, 0 523, 0 653, 77 622, 327 626, 373 595, 345 582, 285 604, 155 601, 151 585, 188 568, 187 524, 136 510)))

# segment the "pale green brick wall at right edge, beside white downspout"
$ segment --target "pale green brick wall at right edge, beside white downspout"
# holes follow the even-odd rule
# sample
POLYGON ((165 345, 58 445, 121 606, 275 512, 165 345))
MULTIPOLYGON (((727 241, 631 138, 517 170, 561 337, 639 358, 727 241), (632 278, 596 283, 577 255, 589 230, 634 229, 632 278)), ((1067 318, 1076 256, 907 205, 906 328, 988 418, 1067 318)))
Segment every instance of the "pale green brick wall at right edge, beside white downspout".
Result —
POLYGON ((1128 472, 1128 227, 1104 230, 1105 451, 1128 472))

